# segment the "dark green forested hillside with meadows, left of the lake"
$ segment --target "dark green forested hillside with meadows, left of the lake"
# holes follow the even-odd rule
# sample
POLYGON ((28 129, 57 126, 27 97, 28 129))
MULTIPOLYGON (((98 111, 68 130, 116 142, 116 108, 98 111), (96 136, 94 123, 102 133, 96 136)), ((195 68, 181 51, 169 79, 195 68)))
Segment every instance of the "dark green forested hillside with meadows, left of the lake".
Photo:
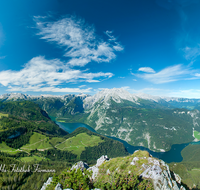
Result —
POLYGON ((40 189, 48 177, 59 175, 77 161, 95 164, 102 155, 110 158, 129 155, 122 143, 85 128, 68 134, 33 102, 1 102, 0 113, 2 190, 40 189), (87 143, 85 138, 91 141, 87 143), (65 147, 70 143, 81 149, 68 150, 65 147), (34 172, 36 166, 48 172, 34 172))

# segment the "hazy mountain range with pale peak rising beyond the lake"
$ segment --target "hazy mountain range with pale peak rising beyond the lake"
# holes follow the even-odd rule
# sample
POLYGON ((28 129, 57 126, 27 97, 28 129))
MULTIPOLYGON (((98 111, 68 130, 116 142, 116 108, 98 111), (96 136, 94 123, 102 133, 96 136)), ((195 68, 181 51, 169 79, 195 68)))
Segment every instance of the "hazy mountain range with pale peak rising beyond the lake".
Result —
POLYGON ((193 128, 200 131, 200 113, 193 110, 199 99, 130 94, 124 89, 105 89, 94 96, 6 94, 1 99, 30 100, 58 120, 85 123, 102 135, 154 151, 191 142, 193 128))

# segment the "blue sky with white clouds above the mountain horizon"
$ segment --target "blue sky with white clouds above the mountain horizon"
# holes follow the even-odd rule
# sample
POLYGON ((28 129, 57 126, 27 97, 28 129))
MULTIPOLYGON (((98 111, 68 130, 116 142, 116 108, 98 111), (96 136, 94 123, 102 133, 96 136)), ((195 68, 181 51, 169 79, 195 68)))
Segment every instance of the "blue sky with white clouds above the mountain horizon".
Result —
POLYGON ((199 0, 0 1, 0 94, 200 98, 199 0))

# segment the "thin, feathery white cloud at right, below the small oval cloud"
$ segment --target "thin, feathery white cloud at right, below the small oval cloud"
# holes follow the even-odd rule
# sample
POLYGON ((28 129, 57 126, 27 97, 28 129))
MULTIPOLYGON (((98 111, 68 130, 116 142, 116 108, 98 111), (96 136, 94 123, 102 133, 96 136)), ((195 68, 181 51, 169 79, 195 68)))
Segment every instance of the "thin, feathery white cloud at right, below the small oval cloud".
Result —
POLYGON ((139 78, 148 80, 154 84, 162 84, 178 80, 198 79, 197 75, 195 76, 196 72, 197 70, 192 70, 189 67, 184 67, 183 65, 179 64, 167 67, 157 73, 144 73, 134 75, 139 78))

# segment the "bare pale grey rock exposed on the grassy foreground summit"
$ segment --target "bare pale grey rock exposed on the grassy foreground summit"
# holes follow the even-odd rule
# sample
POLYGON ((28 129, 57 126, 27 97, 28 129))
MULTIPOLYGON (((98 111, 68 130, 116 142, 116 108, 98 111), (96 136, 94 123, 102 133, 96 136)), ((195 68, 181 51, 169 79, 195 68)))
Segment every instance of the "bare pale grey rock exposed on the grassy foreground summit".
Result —
MULTIPOLYGON (((96 165, 92 167, 88 168, 87 163, 80 161, 74 164, 71 170, 73 169, 77 170, 78 168, 80 168, 83 171, 86 168, 93 172, 91 178, 95 180, 95 178, 99 173, 99 167, 106 161, 109 161, 109 158, 103 155, 97 160, 96 165)), ((143 162, 143 164, 139 165, 140 167, 138 170, 140 172, 140 176, 142 178, 152 179, 155 190, 185 190, 185 188, 181 186, 180 176, 178 174, 171 172, 169 170, 169 166, 164 161, 158 160, 151 156, 150 157, 135 156, 129 163, 130 165, 138 167, 138 163, 141 163, 141 161, 143 162)), ((116 170, 118 170, 117 167, 116 170)), ((110 173, 111 173, 110 170, 107 169, 106 174, 108 175, 110 173)), ((131 173, 131 171, 129 171, 129 173, 131 173)), ((45 190, 46 186, 50 184, 51 181, 52 178, 49 178, 47 182, 44 183, 41 190, 45 190)), ((62 190, 60 183, 56 185, 55 190, 62 190)), ((73 190, 73 189, 64 189, 64 190, 73 190)), ((100 189, 95 188, 95 190, 100 190, 100 189)))

